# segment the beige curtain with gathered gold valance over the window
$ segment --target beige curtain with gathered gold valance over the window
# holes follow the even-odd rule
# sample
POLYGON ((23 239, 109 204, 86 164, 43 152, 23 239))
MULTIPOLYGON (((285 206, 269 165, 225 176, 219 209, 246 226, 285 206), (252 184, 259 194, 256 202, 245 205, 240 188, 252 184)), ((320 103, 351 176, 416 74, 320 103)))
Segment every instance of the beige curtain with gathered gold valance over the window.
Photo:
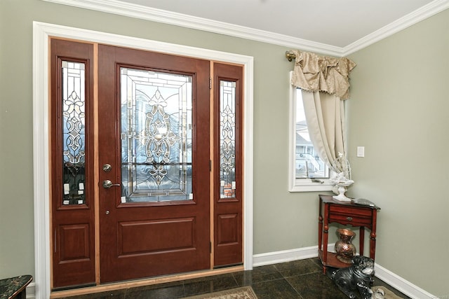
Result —
POLYGON ((321 160, 333 169, 339 153, 347 154, 343 99, 349 98, 349 72, 356 64, 347 58, 290 53, 296 56, 291 84, 302 90, 309 136, 321 160))

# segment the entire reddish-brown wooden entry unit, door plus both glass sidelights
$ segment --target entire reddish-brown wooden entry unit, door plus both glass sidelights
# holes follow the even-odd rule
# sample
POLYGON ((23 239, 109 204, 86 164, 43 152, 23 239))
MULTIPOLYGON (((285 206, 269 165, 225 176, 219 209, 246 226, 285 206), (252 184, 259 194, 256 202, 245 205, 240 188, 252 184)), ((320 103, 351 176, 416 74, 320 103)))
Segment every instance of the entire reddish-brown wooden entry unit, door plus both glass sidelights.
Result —
POLYGON ((242 71, 51 39, 53 289, 243 263, 242 71))

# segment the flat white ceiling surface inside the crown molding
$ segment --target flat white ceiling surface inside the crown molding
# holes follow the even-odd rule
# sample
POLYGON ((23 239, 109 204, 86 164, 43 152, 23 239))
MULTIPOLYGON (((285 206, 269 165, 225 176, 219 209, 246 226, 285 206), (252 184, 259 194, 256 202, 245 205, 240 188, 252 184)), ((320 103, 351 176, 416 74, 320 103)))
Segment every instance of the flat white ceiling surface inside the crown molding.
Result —
POLYGON ((344 47, 433 0, 121 1, 344 47))

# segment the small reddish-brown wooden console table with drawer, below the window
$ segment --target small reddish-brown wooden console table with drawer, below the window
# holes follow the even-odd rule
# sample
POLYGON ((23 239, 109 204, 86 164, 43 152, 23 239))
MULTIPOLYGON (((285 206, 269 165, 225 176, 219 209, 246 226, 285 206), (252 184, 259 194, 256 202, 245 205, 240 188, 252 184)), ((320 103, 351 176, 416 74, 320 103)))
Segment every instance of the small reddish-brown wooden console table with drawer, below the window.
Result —
POLYGON ((323 264, 323 273, 326 267, 349 267, 337 259, 337 255, 328 252, 328 230, 329 223, 340 223, 360 227, 358 237, 360 239, 358 253, 363 256, 363 240, 365 239, 365 228, 370 233, 370 258, 375 258, 376 250, 376 221, 377 210, 380 207, 354 204, 352 202, 341 202, 334 200, 332 195, 319 195, 319 223, 318 223, 318 253, 323 264))

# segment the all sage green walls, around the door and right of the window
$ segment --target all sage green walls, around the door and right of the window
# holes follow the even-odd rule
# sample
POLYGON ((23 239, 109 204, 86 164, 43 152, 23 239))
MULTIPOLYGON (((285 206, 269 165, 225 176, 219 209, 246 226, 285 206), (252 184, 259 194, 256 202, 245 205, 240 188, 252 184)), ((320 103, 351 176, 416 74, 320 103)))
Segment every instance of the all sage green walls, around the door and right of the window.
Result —
MULTIPOLYGON (((436 251, 449 245, 439 232, 448 210, 448 103, 444 78, 436 81, 448 69, 448 17, 445 11, 351 55, 358 66, 347 102, 351 193, 382 207, 376 261, 434 294, 449 294, 438 282, 449 280, 448 256, 436 251), (356 146, 366 146, 366 158, 354 157, 356 146)), ((0 0, 0 277, 34 274, 33 21, 253 56, 254 254, 317 244, 318 193, 288 193, 289 48, 40 0, 0 0)))

